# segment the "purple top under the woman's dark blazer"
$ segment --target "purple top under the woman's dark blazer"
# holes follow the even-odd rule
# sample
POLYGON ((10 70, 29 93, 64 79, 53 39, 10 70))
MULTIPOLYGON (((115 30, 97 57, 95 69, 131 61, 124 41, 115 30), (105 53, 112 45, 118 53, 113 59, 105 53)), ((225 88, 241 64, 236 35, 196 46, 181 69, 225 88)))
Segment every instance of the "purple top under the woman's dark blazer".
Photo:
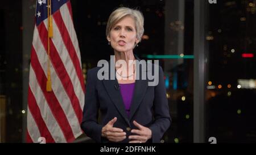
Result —
POLYGON ((125 104, 125 111, 129 117, 135 83, 119 84, 119 86, 123 98, 123 103, 125 104))

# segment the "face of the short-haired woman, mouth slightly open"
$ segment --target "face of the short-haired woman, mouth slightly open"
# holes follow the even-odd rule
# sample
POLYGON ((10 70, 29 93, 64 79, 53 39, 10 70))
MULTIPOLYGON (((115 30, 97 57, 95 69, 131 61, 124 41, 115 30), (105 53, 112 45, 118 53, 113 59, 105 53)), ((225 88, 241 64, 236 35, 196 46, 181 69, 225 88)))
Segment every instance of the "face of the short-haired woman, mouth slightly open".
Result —
POLYGON ((115 51, 133 51, 135 43, 139 41, 136 37, 135 21, 130 16, 125 16, 117 22, 110 30, 108 41, 115 51))

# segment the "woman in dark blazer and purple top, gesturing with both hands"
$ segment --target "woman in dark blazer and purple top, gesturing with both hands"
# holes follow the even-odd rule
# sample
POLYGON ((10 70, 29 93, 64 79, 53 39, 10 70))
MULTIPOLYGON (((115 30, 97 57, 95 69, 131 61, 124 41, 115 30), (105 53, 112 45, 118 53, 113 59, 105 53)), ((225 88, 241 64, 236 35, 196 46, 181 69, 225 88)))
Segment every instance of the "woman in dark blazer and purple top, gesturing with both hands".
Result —
POLYGON ((148 79, 139 78, 144 72, 134 67, 140 61, 133 49, 141 41, 143 23, 138 10, 113 11, 106 37, 114 49, 115 78, 99 80, 101 67, 88 71, 81 128, 97 143, 159 143, 171 124, 162 68, 158 66, 158 85, 148 86, 148 79), (126 67, 118 65, 121 61, 126 67))

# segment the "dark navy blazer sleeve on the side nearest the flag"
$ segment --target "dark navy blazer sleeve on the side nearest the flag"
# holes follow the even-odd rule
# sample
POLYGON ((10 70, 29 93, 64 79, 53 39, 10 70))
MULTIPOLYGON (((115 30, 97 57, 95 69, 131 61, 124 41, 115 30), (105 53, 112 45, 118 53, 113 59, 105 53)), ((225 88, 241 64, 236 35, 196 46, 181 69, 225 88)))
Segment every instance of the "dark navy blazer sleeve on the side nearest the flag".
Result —
POLYGON ((97 76, 97 74, 94 74, 92 70, 88 70, 81 128, 96 143, 101 143, 101 130, 103 126, 98 124, 98 109, 100 105, 96 90, 97 77, 94 76, 97 76))

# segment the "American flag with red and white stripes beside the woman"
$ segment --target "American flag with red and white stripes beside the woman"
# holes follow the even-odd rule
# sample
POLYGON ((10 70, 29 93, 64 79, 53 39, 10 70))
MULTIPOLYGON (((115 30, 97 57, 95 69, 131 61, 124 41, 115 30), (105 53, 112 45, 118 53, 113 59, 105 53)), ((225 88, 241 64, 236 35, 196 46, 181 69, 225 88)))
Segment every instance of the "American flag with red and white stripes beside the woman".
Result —
POLYGON ((82 134, 80 123, 85 94, 71 2, 37 0, 35 19, 28 85, 27 141, 36 143, 39 137, 45 137, 46 143, 71 142, 82 134), (48 40, 49 15, 53 37, 48 40), (48 79, 51 79, 52 91, 46 87, 48 79))

